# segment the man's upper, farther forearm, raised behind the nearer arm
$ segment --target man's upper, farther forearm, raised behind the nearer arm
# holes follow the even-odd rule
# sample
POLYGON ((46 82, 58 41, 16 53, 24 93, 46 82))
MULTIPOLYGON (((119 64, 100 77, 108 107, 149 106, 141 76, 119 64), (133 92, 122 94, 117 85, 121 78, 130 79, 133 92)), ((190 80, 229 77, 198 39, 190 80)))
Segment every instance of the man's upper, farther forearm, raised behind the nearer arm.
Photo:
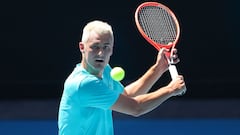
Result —
POLYGON ((147 93, 164 72, 158 65, 153 65, 142 77, 125 87, 127 95, 134 97, 147 93))

